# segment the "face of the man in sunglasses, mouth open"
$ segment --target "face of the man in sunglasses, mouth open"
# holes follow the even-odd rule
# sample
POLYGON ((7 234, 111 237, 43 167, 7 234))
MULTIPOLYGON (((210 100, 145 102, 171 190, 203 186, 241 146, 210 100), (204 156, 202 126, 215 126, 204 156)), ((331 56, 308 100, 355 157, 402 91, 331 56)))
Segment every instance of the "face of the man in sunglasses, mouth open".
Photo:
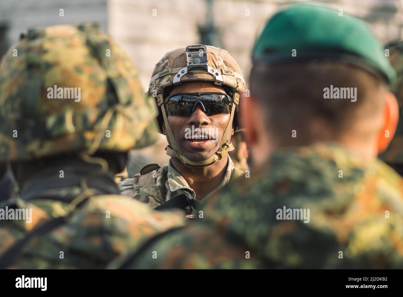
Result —
MULTIPOLYGON (((175 86, 169 95, 197 92, 225 93, 224 88, 217 86, 212 82, 184 82, 175 86)), ((218 150, 230 116, 230 114, 207 116, 201 109, 200 105, 197 105, 191 116, 170 115, 168 116, 168 122, 183 156, 192 161, 202 161, 212 156, 218 150), (204 133, 204 139, 189 139, 189 133, 187 132, 189 129, 192 129, 192 126, 194 126, 194 128, 202 128, 204 132, 206 132, 204 133), (217 135, 211 135, 212 133, 217 133, 217 135), (208 136, 210 136, 210 138, 213 136, 215 139, 207 139, 209 138, 208 136)), ((162 130, 165 134, 165 125, 162 126, 162 130)), ((171 145, 168 137, 167 140, 169 145, 171 145)))

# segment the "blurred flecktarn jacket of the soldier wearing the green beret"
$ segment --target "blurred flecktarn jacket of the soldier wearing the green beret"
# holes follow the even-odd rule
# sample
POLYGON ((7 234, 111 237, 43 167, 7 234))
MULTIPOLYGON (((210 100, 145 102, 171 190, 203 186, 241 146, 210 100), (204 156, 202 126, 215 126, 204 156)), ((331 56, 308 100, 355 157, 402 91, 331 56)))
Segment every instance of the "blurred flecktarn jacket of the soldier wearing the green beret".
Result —
POLYGON ((122 263, 401 269, 403 180, 383 162, 337 145, 276 152, 250 179, 229 183, 210 197, 204 219, 151 240, 113 267, 122 263), (309 223, 276 219, 284 206, 310 209, 309 223))

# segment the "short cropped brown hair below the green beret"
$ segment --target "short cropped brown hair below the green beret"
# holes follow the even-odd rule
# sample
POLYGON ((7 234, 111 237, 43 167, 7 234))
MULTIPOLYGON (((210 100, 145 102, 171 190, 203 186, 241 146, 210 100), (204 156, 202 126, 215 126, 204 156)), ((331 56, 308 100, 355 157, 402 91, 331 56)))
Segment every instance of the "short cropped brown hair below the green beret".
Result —
POLYGON ((289 139, 292 130, 296 130, 303 141, 298 145, 315 139, 314 120, 328 124, 331 127, 328 133, 336 140, 363 117, 382 112, 383 98, 379 94, 381 88, 387 90, 387 84, 381 78, 340 61, 255 62, 249 84, 251 93, 266 115, 270 135, 282 142, 289 139), (330 91, 335 92, 336 88, 341 90, 339 97, 340 93, 348 95, 346 88, 353 88, 350 91, 356 91, 356 101, 328 98, 330 91))

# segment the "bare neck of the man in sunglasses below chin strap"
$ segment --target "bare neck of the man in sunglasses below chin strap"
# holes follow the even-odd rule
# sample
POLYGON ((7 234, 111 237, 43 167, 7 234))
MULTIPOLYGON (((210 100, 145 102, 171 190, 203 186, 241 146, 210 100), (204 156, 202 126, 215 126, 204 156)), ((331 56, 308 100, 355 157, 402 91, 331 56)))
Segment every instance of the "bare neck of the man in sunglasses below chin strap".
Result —
POLYGON ((202 200, 216 190, 224 180, 228 155, 206 167, 188 167, 178 158, 172 157, 172 165, 185 178, 189 187, 196 193, 196 199, 202 200))

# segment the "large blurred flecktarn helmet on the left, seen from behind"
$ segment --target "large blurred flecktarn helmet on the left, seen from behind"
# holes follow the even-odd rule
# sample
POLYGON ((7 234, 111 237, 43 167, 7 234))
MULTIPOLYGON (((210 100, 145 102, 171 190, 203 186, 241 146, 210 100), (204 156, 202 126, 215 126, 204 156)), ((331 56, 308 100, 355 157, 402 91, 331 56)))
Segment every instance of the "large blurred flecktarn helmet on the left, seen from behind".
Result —
POLYGON ((31 29, 0 65, 0 162, 149 145, 157 112, 97 25, 31 29))

